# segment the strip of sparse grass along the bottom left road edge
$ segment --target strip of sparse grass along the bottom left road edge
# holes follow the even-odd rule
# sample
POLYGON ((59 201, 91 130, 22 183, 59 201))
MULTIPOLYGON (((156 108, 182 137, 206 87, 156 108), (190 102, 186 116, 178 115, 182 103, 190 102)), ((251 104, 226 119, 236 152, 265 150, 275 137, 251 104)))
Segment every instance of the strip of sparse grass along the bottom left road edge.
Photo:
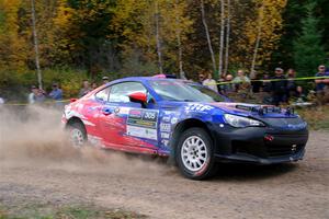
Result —
POLYGON ((19 205, 0 206, 0 219, 139 219, 146 216, 122 209, 104 209, 95 206, 19 205))

